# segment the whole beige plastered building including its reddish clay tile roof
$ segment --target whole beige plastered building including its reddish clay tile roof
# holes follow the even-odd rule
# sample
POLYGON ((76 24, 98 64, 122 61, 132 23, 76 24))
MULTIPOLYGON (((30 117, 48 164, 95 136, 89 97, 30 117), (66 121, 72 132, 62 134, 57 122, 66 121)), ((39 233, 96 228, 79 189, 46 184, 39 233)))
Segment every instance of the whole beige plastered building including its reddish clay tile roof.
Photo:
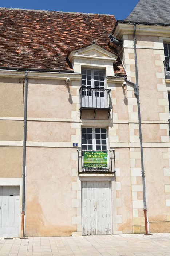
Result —
POLYGON ((0 236, 169 232, 170 26, 144 2, 0 8, 0 236))

